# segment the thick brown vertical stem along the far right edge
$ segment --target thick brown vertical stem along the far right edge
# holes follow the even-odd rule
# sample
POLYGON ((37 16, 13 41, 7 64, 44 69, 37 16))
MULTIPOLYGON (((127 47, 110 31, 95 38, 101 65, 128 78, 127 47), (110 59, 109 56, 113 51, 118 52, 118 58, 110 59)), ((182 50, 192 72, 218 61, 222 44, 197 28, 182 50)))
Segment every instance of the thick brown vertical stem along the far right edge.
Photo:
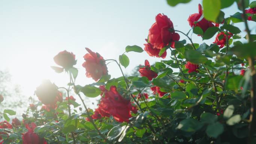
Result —
MULTIPOLYGON (((241 0, 242 2, 242 6, 243 6, 243 21, 246 27, 246 32, 247 32, 247 36, 248 36, 248 40, 249 43, 252 43, 252 37, 250 35, 250 29, 248 27, 248 23, 247 23, 247 15, 245 12, 245 1, 241 0)), ((255 67, 254 67, 254 58, 253 57, 249 57, 248 58, 248 62, 249 62, 249 66, 250 66, 250 71, 251 71, 251 76, 252 79, 250 81, 251 83, 251 108, 250 108, 250 119, 249 119, 249 138, 248 138, 248 144, 251 144, 253 141, 253 134, 255 132, 255 126, 256 126, 256 85, 255 85, 255 79, 256 79, 256 72, 255 72, 255 67)))

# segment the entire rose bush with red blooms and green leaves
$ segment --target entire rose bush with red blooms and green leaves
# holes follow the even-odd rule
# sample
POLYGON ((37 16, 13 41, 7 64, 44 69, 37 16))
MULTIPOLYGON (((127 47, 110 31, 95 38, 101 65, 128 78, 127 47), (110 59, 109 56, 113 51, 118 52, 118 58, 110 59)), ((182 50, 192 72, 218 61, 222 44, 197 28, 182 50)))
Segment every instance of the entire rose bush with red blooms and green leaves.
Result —
MULTIPOLYGON (((167 0, 170 6, 189 1, 167 0)), ((54 61, 61 67, 52 68, 67 72, 70 83, 58 87, 44 81, 35 91, 39 102, 30 104, 23 119, 14 118, 12 124, 9 115, 16 112, 5 109, 0 143, 255 144, 256 34, 247 20, 256 20, 256 1, 203 0, 198 7, 199 13, 188 18, 187 33, 174 29, 167 15, 156 15, 144 50, 127 46, 119 62, 89 48, 82 65, 76 65, 72 52, 58 53, 54 61), (226 16, 221 9, 233 3, 243 13, 226 16), (246 34, 235 26, 239 22, 246 34), (198 44, 190 33, 202 40, 216 37, 210 45, 198 44), (180 34, 186 39, 180 40, 180 34), (145 60, 137 76, 125 76, 125 53, 143 51, 158 61, 150 65, 145 60), (121 77, 110 76, 108 62, 116 63, 121 77), (76 67, 84 67, 85 76, 95 83, 77 84, 76 67), (88 108, 83 96, 99 96, 98 107, 88 108)))

